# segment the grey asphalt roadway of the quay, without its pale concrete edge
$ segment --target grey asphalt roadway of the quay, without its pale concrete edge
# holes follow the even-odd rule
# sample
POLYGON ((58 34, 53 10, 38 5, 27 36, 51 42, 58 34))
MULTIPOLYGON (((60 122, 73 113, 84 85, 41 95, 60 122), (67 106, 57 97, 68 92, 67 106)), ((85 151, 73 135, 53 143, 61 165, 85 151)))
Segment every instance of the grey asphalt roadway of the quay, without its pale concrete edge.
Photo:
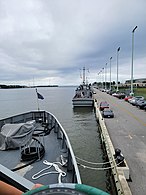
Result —
POLYGON ((115 117, 105 119, 114 148, 119 148, 130 169, 133 195, 146 195, 146 112, 124 100, 94 89, 94 98, 107 101, 115 117))

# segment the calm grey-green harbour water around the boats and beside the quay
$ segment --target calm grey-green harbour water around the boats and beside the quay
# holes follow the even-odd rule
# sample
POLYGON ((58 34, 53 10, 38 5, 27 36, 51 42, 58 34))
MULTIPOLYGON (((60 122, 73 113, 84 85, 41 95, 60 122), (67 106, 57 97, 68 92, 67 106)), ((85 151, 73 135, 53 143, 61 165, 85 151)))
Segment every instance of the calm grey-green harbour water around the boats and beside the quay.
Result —
MULTIPOLYGON (((92 162, 103 162, 100 135, 93 109, 73 109, 75 87, 38 88, 44 96, 39 100, 41 110, 53 113, 66 130, 77 157, 92 162)), ((1 89, 0 118, 38 109, 35 89, 1 89)), ((98 166, 99 167, 99 166, 98 166)), ((107 190, 105 171, 79 166, 84 184, 107 190)))

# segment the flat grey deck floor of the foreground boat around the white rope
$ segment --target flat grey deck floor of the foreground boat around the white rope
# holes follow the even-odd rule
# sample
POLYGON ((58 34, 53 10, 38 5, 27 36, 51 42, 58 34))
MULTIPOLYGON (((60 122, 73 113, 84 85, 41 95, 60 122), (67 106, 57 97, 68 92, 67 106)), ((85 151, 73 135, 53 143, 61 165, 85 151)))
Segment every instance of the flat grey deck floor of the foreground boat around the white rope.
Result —
MULTIPOLYGON (((17 171, 17 173, 20 174, 21 176, 24 176, 26 179, 32 181, 33 183, 41 183, 44 185, 58 183, 58 174, 49 174, 37 180, 32 179, 32 175, 47 167, 46 165, 43 164, 43 160, 47 160, 49 162, 60 162, 60 156, 66 155, 66 153, 61 152, 61 148, 60 150, 58 150, 58 148, 60 148, 60 145, 57 141, 56 135, 54 135, 54 132, 52 131, 51 134, 45 138, 45 155, 41 159, 41 161, 36 161, 32 165, 29 165, 28 167, 17 171)), ((28 163, 28 162, 20 162, 19 150, 0 151, 0 156, 1 156, 1 160, 0 160, 1 164, 9 169, 19 167, 23 163, 28 163)), ((66 171, 66 168, 61 167, 61 169, 66 171)), ((53 170, 54 169, 52 167, 47 171, 53 171, 53 170)), ((71 178, 69 178, 68 176, 63 178, 64 179, 63 181, 65 183, 66 182, 69 183, 69 181, 71 182, 71 178)))

